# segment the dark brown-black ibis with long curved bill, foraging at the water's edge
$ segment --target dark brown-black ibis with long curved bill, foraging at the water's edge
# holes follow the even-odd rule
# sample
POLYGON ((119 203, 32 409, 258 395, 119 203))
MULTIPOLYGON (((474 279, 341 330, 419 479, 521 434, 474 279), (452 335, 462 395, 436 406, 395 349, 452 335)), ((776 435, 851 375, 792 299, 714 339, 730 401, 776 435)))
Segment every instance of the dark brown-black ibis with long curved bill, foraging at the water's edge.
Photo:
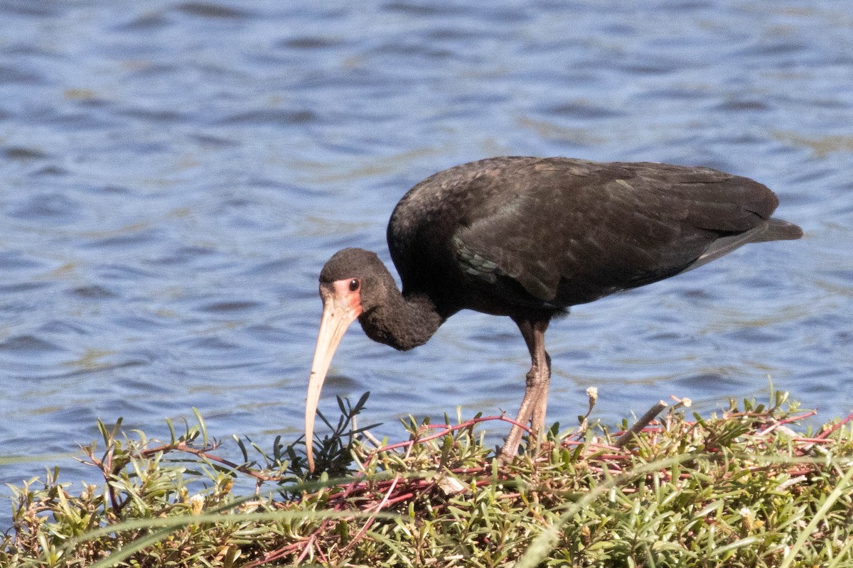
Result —
MULTIPOLYGON (((489 158, 407 192, 388 222, 403 292, 368 250, 335 253, 320 273, 323 311, 305 403, 311 440, 323 380, 351 322, 408 350, 462 309, 509 316, 531 353, 516 422, 543 432, 548 322, 569 307, 700 267, 742 244, 800 238, 771 218, 766 186, 716 169, 570 158, 489 158)), ((514 456, 512 427, 503 456, 514 456)))

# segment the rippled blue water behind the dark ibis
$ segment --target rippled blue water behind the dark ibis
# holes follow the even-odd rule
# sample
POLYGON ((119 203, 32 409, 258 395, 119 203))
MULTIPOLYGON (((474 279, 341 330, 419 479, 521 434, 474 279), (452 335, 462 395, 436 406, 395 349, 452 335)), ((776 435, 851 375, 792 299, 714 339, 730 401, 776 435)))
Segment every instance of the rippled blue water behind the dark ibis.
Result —
MULTIPOLYGON (((218 438, 295 438, 328 256, 387 261, 403 192, 506 154, 725 169, 806 231, 552 324, 549 421, 593 385, 612 423, 768 376, 853 410, 853 7, 316 4, 0 1, 0 456, 72 452, 97 418, 164 436, 192 407, 218 438)), ((409 412, 514 413, 528 364, 505 318, 410 353, 355 326, 321 408, 370 390, 398 438, 409 412)), ((0 480, 55 463, 91 476, 37 457, 0 480)))

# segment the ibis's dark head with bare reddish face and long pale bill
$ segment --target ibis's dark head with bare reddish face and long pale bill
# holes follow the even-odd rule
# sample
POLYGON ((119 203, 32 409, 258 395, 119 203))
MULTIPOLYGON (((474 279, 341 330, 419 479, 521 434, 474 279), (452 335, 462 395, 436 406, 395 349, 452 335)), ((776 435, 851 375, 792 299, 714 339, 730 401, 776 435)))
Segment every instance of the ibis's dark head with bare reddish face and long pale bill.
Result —
POLYGON ((332 363, 341 337, 350 324, 370 308, 369 298, 363 298, 362 290, 373 284, 377 264, 387 272, 375 253, 362 249, 344 249, 336 252, 320 273, 322 318, 308 380, 308 396, 305 399, 305 450, 310 471, 314 471, 314 416, 320 401, 322 383, 326 380, 329 364, 332 363), (363 301, 366 301, 366 305, 363 301))

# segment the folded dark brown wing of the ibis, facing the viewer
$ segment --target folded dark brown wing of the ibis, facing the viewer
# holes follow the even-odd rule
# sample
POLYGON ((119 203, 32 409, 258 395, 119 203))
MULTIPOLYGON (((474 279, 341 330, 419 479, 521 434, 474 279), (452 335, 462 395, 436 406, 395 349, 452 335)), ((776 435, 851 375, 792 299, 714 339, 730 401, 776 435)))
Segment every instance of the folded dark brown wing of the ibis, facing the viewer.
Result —
POLYGON ((778 203, 755 181, 666 164, 551 159, 502 182, 516 191, 491 194, 456 231, 456 257, 505 300, 543 308, 649 284, 761 240, 778 203))

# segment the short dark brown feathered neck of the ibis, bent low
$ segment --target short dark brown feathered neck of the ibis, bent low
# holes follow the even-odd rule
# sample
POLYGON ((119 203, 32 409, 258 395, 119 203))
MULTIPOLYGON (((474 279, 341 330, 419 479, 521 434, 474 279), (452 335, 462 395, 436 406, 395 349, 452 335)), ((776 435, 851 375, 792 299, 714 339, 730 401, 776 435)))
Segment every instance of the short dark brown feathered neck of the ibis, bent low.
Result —
POLYGON ((385 301, 358 318, 367 336, 401 351, 418 347, 444 323, 426 295, 403 297, 395 285, 385 301))

